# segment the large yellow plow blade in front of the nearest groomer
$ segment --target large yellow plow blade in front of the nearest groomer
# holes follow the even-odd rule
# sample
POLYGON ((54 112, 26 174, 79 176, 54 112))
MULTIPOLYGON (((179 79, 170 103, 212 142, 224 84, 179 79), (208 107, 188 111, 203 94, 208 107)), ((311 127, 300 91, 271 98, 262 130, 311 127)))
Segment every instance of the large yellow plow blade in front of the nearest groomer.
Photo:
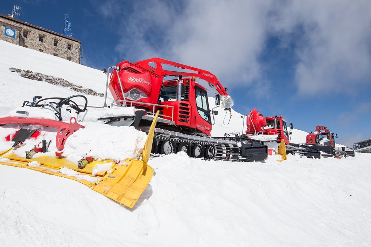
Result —
POLYGON ((24 167, 55 176, 78 181, 92 190, 129 208, 134 207, 142 192, 147 188, 153 176, 153 168, 147 165, 150 158, 154 129, 158 118, 156 113, 142 152, 142 160, 127 159, 125 163, 116 164, 112 160, 92 161, 83 169, 78 164, 66 160, 42 156, 31 159, 19 157, 13 149, 0 154, 0 164, 24 167), (35 161, 35 162, 32 162, 35 161), (98 170, 98 172, 94 172, 98 170), (94 176, 92 176, 94 174, 94 176))

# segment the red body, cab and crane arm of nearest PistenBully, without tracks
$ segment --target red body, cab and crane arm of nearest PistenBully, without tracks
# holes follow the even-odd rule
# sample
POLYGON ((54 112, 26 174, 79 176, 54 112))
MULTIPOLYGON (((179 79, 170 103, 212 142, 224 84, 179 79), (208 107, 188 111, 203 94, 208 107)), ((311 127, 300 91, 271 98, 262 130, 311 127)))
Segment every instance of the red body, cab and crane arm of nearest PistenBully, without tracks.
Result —
POLYGON ((207 90, 196 83, 196 77, 207 81, 221 95, 224 109, 233 106, 227 89, 209 71, 159 58, 117 64, 108 87, 114 99, 122 105, 146 111, 160 110, 160 117, 169 120, 167 125, 178 126, 186 134, 210 136, 212 123, 207 90), (165 66, 187 71, 165 70, 165 66), (164 81, 165 76, 177 78, 164 81))

